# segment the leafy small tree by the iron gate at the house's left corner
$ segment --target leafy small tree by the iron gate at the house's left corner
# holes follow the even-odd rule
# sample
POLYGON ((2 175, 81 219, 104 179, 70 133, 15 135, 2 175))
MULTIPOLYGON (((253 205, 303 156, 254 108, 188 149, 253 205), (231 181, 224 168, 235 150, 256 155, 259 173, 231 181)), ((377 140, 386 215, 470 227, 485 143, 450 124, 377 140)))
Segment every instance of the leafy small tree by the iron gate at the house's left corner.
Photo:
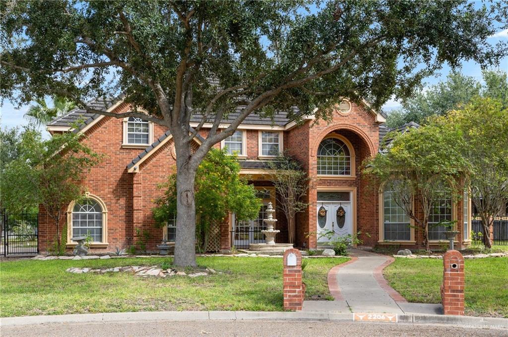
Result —
POLYGON ((34 130, 21 138, 20 155, 2 174, 2 202, 11 212, 41 204, 55 223, 57 252, 62 250, 60 220, 65 207, 83 196, 85 172, 99 161, 74 133, 42 140, 34 130))

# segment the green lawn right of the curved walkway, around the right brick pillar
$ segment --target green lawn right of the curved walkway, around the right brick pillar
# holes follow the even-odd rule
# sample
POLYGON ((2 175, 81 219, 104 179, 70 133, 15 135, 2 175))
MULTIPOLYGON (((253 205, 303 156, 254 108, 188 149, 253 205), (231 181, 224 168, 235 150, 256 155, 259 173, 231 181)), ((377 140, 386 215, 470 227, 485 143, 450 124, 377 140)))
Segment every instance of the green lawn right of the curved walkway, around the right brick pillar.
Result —
MULTIPOLYGON (((396 258, 384 270, 390 285, 409 302, 440 303, 443 263, 396 258)), ((465 260, 465 311, 471 316, 508 317, 508 258, 465 260)))

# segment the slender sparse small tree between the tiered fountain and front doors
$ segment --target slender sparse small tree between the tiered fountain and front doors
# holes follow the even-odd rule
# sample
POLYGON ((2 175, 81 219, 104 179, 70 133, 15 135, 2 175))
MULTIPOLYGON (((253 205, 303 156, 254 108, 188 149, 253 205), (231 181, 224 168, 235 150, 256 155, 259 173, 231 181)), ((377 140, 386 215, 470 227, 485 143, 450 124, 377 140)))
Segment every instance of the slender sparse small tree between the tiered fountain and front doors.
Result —
POLYGON ((288 220, 288 240, 289 243, 294 243, 296 214, 303 212, 309 205, 302 202, 309 189, 309 178, 300 163, 288 155, 278 156, 269 165, 273 171, 272 180, 278 205, 288 220))

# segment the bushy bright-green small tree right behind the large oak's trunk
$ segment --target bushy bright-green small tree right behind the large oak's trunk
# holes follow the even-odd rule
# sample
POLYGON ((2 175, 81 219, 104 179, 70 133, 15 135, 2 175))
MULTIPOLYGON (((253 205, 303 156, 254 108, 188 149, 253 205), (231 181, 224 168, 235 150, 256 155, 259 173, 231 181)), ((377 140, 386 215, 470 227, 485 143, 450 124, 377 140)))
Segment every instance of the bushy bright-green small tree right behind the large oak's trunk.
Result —
MULTIPOLYGON (((211 149, 200 164, 195 183, 196 237, 198 248, 205 251, 208 245, 209 229, 213 224, 224 221, 228 212, 235 213, 237 220, 248 220, 258 216, 261 202, 254 186, 240 177, 240 164, 235 156, 229 156, 226 150, 211 149)), ((169 176, 161 185, 164 195, 158 198, 153 209, 157 226, 165 226, 168 219, 177 211, 176 189, 177 174, 169 176)))

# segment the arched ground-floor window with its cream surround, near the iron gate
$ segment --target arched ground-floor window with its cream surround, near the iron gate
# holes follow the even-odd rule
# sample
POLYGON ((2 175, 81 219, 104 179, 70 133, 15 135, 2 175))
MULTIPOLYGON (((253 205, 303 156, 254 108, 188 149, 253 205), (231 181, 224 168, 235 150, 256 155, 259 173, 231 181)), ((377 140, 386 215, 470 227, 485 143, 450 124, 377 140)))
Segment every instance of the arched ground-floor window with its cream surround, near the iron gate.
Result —
POLYGON ((92 244, 107 243, 107 210, 104 202, 96 196, 86 194, 86 198, 69 205, 67 210, 68 238, 90 236, 92 244))

